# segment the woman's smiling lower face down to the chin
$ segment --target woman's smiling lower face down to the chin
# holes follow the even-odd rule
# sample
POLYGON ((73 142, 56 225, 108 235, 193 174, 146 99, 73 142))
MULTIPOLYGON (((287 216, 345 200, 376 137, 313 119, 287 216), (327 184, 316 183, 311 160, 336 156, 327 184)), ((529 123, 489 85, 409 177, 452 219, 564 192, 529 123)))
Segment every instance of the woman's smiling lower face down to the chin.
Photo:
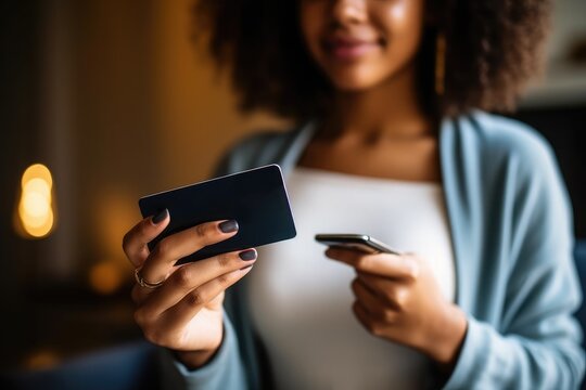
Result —
POLYGON ((336 90, 367 90, 410 65, 421 41, 423 2, 304 0, 301 26, 336 90))

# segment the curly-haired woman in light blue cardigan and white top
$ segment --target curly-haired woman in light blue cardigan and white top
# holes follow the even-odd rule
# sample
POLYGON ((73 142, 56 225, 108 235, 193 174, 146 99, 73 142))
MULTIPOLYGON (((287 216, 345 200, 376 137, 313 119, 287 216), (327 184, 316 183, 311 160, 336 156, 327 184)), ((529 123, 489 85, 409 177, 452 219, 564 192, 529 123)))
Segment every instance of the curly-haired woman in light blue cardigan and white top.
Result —
POLYGON ((238 221, 152 252, 173 216, 128 232, 136 320, 173 351, 168 380, 576 388, 581 296, 560 173, 531 129, 481 112, 512 106, 548 12, 536 0, 201 2, 242 107, 300 123, 243 141, 217 173, 280 164, 300 234, 257 263, 250 248, 175 266, 238 234, 238 221), (329 261, 313 235, 331 232, 372 234, 404 255, 329 248, 329 261))

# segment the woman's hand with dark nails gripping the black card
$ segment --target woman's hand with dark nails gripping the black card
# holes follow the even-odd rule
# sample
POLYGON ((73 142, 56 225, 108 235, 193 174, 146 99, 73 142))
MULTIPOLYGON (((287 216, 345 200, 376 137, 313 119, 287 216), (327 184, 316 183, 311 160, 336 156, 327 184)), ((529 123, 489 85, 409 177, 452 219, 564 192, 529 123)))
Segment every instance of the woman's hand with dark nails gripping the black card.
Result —
POLYGON ((177 260, 201 248, 234 236, 235 221, 202 223, 163 238, 152 251, 146 244, 170 221, 167 210, 135 225, 123 240, 132 265, 156 288, 135 285, 135 320, 144 337, 174 350, 190 368, 205 364, 221 344, 222 301, 226 288, 250 272, 256 250, 219 255, 182 265, 177 260))

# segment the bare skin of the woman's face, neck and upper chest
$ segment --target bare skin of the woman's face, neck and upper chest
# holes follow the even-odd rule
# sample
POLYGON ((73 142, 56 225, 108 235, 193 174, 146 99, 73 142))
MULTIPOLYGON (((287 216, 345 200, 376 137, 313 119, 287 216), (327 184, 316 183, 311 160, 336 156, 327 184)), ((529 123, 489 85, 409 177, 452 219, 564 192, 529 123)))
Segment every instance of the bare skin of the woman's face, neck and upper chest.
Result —
POLYGON ((335 87, 333 107, 301 165, 367 177, 440 181, 433 120, 419 104, 415 57, 423 1, 305 0, 301 28, 335 87), (368 42, 352 61, 324 42, 368 42), (371 42, 378 44, 372 46, 371 42))

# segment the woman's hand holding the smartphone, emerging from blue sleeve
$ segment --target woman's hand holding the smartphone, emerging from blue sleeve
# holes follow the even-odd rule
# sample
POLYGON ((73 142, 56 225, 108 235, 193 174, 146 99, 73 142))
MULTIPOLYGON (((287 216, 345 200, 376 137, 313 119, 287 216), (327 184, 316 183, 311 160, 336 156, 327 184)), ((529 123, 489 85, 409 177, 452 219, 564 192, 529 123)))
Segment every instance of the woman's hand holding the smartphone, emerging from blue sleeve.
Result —
POLYGON ((444 298, 423 259, 341 248, 329 248, 326 256, 356 270, 353 310, 368 332, 415 348, 451 370, 466 336, 466 314, 444 298))

